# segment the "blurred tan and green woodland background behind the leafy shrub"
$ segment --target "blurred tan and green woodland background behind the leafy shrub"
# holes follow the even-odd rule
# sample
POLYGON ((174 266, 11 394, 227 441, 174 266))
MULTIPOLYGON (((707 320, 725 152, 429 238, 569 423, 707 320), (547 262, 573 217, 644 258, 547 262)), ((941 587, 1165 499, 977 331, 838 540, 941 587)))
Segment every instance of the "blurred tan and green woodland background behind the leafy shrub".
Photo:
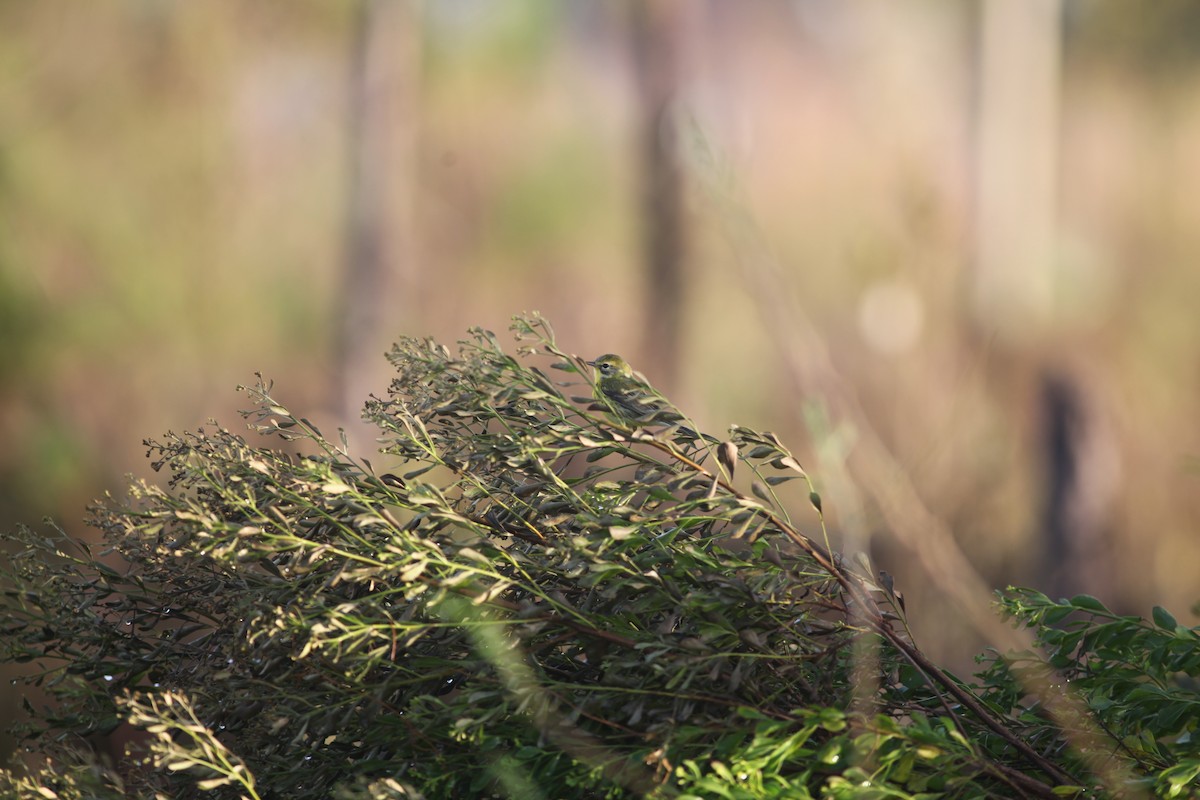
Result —
POLYGON ((395 337, 538 309, 778 432, 935 657, 955 584, 1194 625, 1198 186, 1186 0, 0 0, 0 522, 254 371, 370 456, 395 337))

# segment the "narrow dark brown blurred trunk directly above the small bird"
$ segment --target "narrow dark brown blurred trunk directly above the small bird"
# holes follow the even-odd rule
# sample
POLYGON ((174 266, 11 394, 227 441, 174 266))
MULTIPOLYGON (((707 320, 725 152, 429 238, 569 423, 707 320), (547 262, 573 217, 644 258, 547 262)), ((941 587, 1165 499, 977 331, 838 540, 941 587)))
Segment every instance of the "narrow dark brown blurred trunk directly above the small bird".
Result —
POLYGON ((667 387, 677 384, 686 290, 683 170, 671 108, 679 91, 684 14, 679 0, 632 1, 641 118, 643 369, 667 387))

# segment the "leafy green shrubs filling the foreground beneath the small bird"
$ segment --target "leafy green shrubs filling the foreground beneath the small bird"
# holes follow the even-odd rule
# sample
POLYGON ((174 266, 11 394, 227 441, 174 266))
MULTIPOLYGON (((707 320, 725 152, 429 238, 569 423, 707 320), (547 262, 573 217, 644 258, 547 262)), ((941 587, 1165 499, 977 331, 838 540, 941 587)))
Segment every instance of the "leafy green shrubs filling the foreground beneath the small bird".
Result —
POLYGON ((486 331, 396 345, 366 416, 398 475, 259 384, 252 427, 308 455, 169 435, 167 486, 95 510, 103 552, 17 534, 0 637, 55 704, 0 796, 1190 790, 1195 630, 1010 593, 1049 664, 964 685, 793 524, 781 479, 818 530, 820 499, 773 434, 613 420, 544 320, 514 329, 521 361, 486 331), (1039 705, 1064 679, 1090 715, 1039 705), (142 744, 104 768, 82 744, 119 727, 142 744))

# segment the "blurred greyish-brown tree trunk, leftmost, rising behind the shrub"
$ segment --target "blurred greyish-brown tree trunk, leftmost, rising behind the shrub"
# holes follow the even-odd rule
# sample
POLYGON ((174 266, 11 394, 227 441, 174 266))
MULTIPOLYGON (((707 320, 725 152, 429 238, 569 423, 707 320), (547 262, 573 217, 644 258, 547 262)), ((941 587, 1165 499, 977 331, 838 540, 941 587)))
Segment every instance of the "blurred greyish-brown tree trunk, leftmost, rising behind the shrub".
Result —
POLYGON ((367 395, 383 389, 383 351, 397 320, 412 309, 410 187, 420 62, 419 4, 359 0, 353 13, 350 184, 331 375, 332 404, 348 434, 367 395))

